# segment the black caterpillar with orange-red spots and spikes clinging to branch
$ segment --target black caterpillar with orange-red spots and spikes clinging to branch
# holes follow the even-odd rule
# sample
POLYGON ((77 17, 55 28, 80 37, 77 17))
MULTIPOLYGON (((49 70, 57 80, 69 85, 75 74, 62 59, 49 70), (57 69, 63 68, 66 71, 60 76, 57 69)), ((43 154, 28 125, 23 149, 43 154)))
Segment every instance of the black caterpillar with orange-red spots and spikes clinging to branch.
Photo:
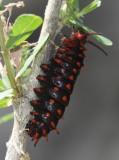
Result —
POLYGON ((56 50, 54 58, 50 59, 49 64, 40 66, 45 75, 37 76, 41 87, 34 88, 38 99, 30 102, 33 107, 31 112, 33 119, 26 124, 28 135, 35 140, 34 146, 41 137, 48 140, 51 130, 59 134, 56 128, 58 121, 63 119, 77 76, 85 66, 84 45, 90 43, 107 55, 103 49, 87 39, 87 36, 93 34, 97 33, 86 33, 81 30, 72 32, 70 37, 62 35, 62 46, 54 45, 56 50))

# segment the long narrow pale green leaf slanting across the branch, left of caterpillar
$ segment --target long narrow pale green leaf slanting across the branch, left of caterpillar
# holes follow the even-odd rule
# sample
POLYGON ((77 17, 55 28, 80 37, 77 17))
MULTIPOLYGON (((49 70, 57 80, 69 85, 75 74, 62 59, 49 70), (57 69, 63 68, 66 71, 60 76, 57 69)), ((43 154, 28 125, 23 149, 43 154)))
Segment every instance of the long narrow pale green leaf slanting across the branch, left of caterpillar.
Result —
POLYGON ((29 67, 31 62, 34 60, 35 56, 41 51, 41 49, 47 42, 48 38, 49 38, 49 34, 47 34, 41 42, 40 41, 38 42, 38 45, 35 47, 33 51, 33 54, 26 60, 26 63, 24 64, 22 69, 17 73, 15 77, 16 79, 20 77, 26 71, 26 69, 29 67))

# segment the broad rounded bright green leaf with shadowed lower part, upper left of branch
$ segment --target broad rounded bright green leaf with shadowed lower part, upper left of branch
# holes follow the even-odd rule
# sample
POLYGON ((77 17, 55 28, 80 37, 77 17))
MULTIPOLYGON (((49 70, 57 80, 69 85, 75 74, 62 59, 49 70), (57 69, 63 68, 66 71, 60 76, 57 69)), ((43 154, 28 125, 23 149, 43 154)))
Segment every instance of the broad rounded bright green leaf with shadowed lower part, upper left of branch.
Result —
POLYGON ((42 18, 34 14, 23 14, 13 24, 6 41, 6 48, 12 49, 25 41, 42 24, 42 18))

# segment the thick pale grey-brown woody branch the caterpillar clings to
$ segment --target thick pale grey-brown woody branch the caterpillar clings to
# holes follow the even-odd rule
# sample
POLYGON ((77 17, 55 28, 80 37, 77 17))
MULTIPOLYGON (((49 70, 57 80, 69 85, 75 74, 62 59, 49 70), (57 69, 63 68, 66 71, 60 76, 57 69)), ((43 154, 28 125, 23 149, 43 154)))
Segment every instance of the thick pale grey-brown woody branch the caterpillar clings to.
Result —
MULTIPOLYGON (((39 38, 40 41, 42 41, 46 33, 49 33, 50 39, 53 40, 56 33, 62 28, 62 24, 58 17, 62 1, 63 0, 49 0, 45 11, 44 24, 39 38)), ((25 154, 27 136, 24 131, 26 123, 29 120, 29 113, 31 111, 29 101, 36 98, 36 95, 33 93, 33 88, 38 87, 36 76, 38 74, 42 74, 39 66, 41 63, 48 61, 50 50, 51 44, 48 42, 35 59, 32 73, 29 76, 27 86, 23 91, 24 97, 13 100, 14 125, 12 135, 7 143, 5 160, 26 160, 24 157, 30 159, 28 154, 25 154)))

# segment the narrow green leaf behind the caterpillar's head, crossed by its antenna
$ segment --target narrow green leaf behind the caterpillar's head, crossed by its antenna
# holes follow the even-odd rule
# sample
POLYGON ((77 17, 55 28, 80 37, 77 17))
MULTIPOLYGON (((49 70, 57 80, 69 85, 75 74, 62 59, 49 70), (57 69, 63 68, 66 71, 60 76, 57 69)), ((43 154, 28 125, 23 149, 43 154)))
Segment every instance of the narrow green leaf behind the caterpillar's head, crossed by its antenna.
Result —
MULTIPOLYGON (((81 27, 83 28, 84 30, 86 30, 87 32, 89 33, 96 33, 94 30, 88 28, 87 26, 85 26, 84 24, 80 23, 79 21, 70 21, 73 25, 77 26, 77 27, 81 27)), ((102 36, 102 35, 93 35, 93 37, 98 40, 100 43, 102 43, 103 45, 106 45, 106 46, 112 46, 113 45, 113 42, 102 36)))

